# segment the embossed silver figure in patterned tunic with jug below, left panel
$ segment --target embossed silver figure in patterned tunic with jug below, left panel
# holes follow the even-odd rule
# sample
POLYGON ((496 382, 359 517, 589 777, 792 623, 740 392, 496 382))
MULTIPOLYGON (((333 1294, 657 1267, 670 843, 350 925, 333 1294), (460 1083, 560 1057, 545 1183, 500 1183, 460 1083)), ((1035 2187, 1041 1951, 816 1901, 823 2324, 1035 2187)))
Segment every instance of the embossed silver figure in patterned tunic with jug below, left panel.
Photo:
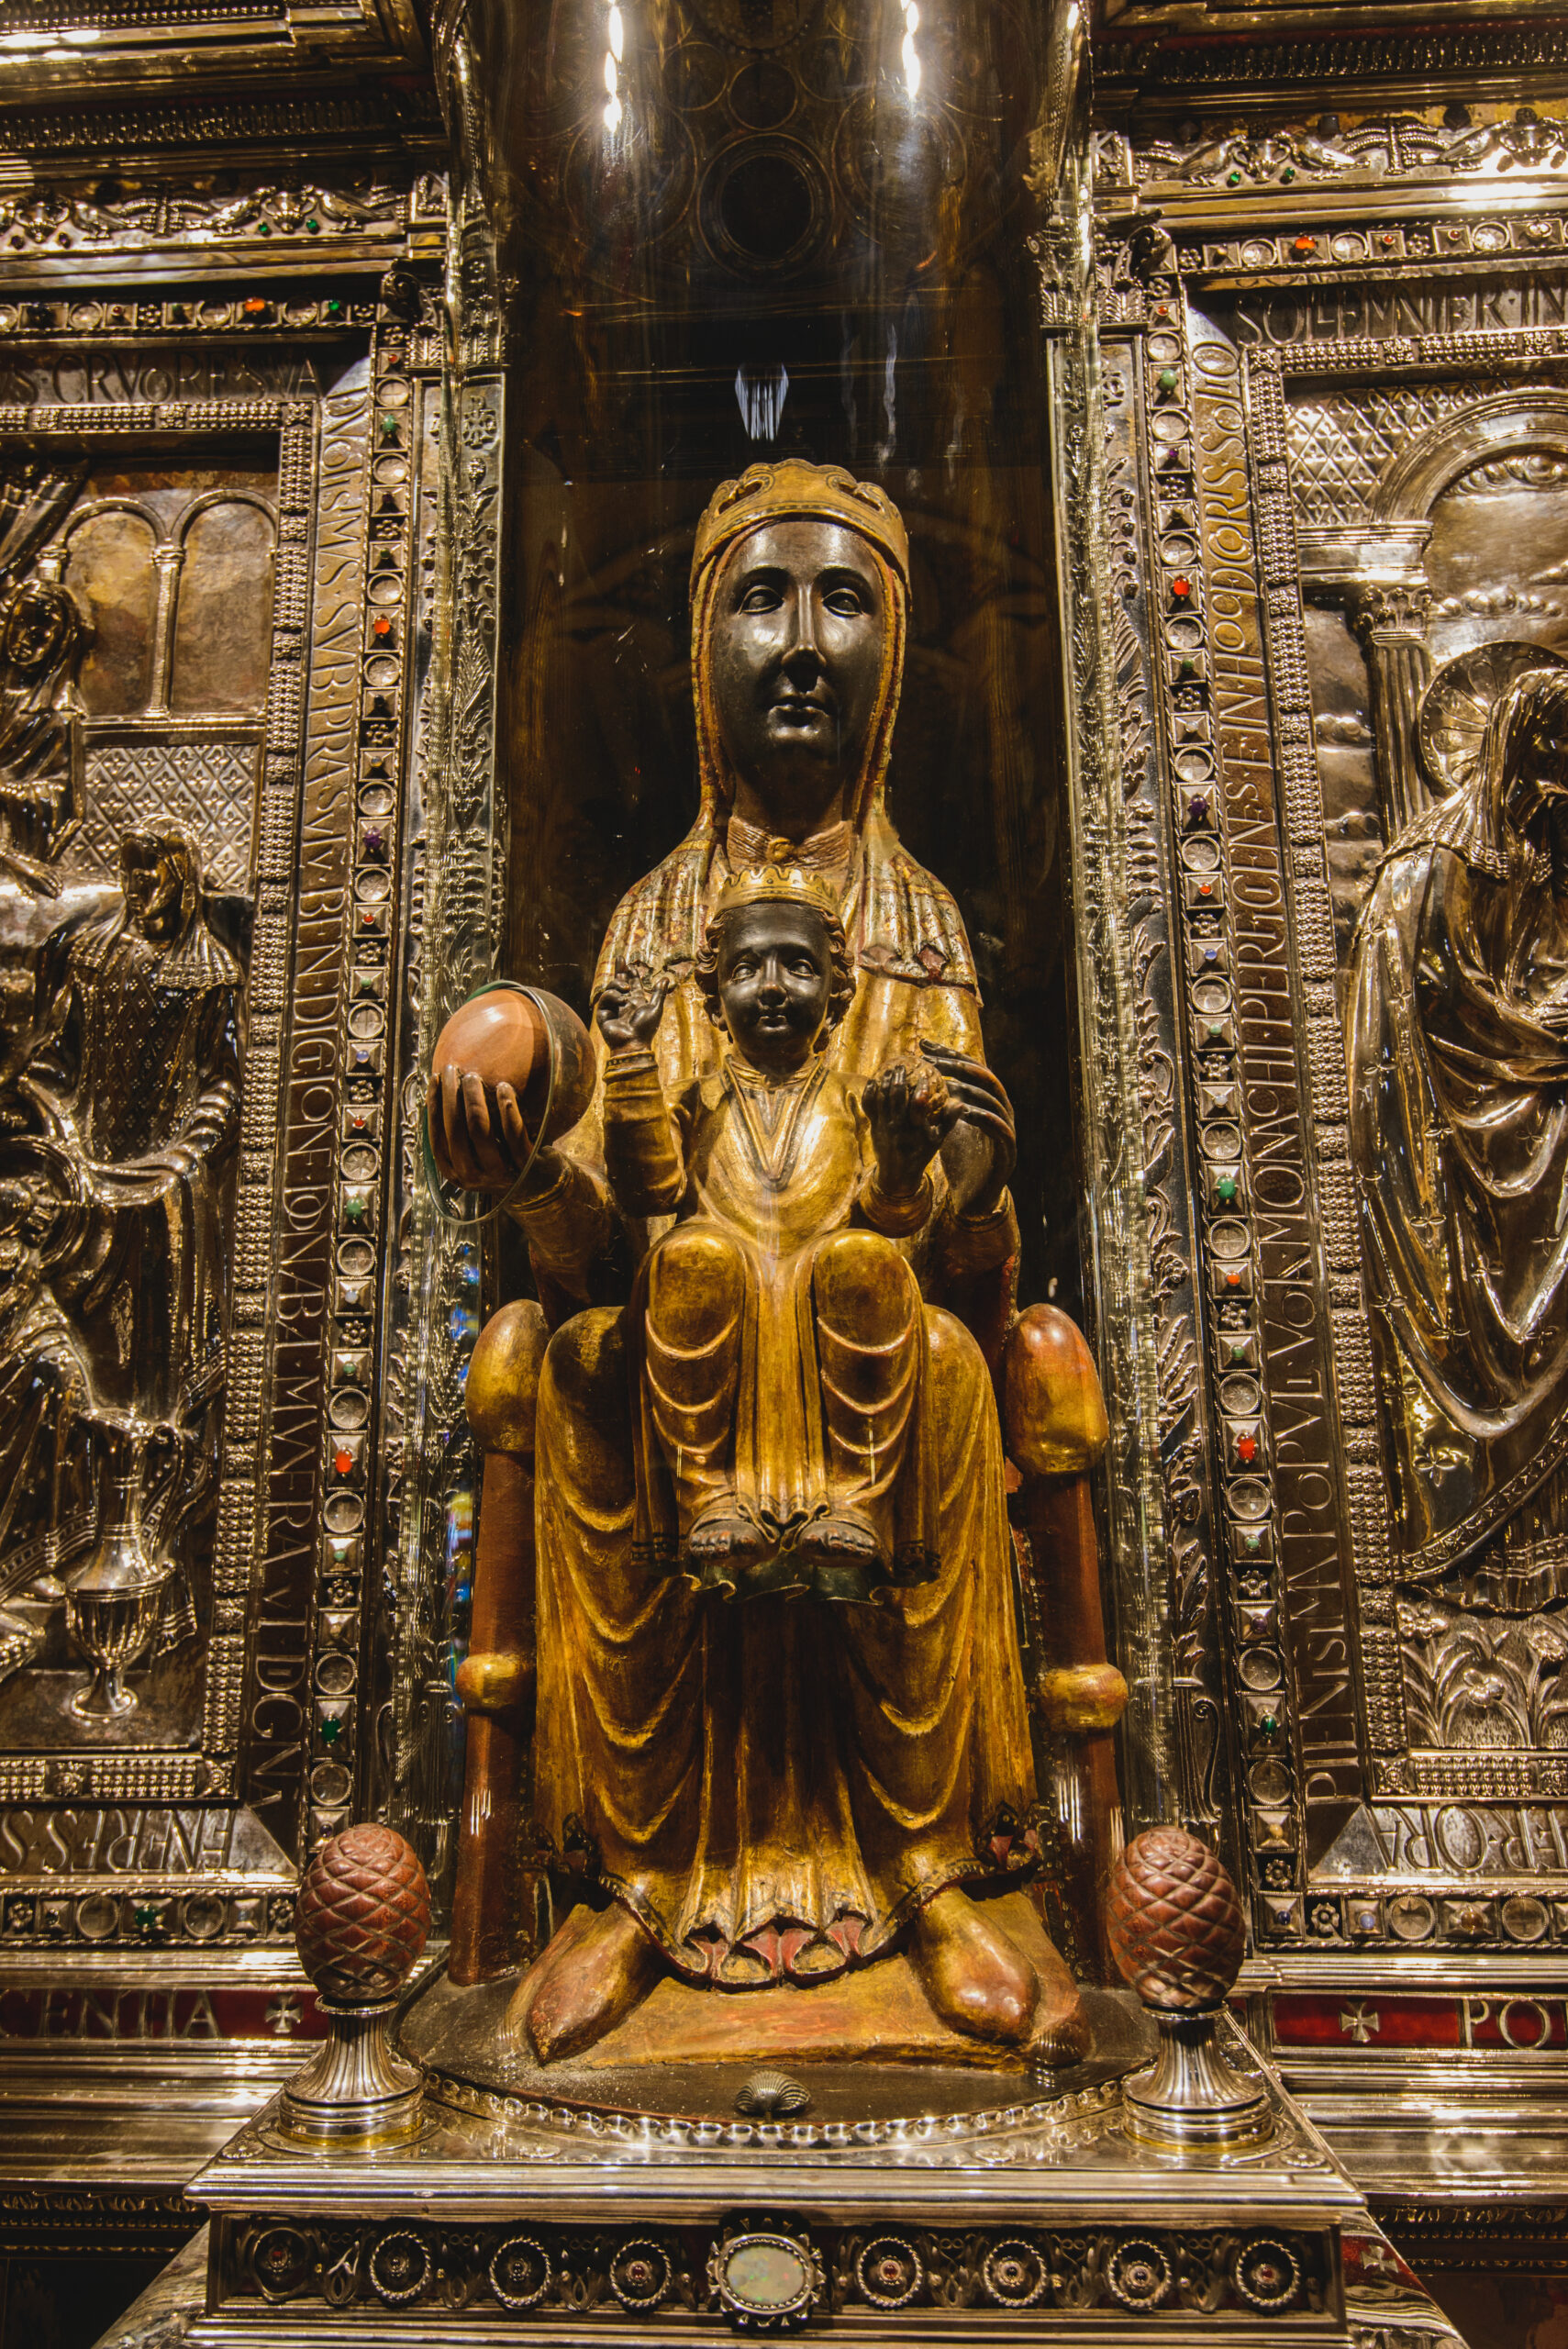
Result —
POLYGON ((195 846, 129 832, 120 895, 38 954, 0 1132, 0 1680, 70 1665, 89 1729, 190 1640, 211 1496, 242 972, 195 846), (85 1668, 85 1670, 82 1670, 85 1668))

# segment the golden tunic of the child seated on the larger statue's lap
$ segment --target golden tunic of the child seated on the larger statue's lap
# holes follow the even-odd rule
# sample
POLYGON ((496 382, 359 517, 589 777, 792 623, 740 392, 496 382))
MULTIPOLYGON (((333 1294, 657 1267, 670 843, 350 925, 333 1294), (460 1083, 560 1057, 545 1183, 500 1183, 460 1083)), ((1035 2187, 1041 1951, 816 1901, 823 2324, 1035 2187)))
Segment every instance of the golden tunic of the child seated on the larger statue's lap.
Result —
MULTIPOLYGON (((800 1534, 847 1503, 880 1536, 885 1571, 829 1595, 930 1579, 925 1313, 906 1257, 866 1229, 876 1158, 859 1088, 822 1059, 768 1078, 728 1052, 667 1104, 653 1052, 615 1052, 603 1142, 620 1207, 676 1217, 631 1301, 636 1555, 674 1569, 718 1503, 765 1553, 742 1590, 822 1590, 798 1564, 800 1534)), ((721 1564, 704 1581, 732 1588, 721 1564)))

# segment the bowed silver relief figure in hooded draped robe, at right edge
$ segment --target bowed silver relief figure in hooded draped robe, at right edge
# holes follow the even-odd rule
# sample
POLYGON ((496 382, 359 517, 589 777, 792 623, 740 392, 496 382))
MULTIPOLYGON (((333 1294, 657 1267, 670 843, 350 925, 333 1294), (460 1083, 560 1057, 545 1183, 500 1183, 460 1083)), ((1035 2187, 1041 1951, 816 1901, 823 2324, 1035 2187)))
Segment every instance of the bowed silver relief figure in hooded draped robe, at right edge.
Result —
POLYGON ((1406 1562, 1432 1579, 1514 1520, 1469 1597, 1547 1604, 1568 1593, 1568 669, 1498 695, 1469 778, 1378 867, 1347 1052, 1406 1562))

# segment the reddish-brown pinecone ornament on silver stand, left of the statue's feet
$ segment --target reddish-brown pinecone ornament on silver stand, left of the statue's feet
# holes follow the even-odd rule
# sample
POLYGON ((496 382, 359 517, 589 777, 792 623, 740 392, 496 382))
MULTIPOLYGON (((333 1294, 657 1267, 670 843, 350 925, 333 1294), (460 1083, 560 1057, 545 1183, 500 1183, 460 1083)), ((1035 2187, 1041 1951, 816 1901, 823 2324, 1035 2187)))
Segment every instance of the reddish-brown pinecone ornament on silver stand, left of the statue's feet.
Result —
POLYGON ((345 1828, 305 1870, 293 1924, 300 1966, 329 2006, 394 1997, 430 1938, 430 1886, 394 1828, 345 1828))

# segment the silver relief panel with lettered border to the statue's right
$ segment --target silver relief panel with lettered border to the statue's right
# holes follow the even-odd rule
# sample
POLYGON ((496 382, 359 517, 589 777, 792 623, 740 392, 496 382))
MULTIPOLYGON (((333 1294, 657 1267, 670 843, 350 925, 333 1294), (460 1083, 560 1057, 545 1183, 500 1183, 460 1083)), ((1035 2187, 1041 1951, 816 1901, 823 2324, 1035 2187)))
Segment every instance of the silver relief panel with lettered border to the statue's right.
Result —
MULTIPOLYGON (((1183 261, 1150 453, 1174 526, 1164 632, 1195 639, 1188 700, 1214 747, 1214 789, 1178 796, 1181 853, 1211 867, 1223 907, 1192 928, 1230 965, 1225 1001, 1197 980, 1190 994, 1199 1149, 1237 1144, 1209 1184, 1207 1290, 1258 1931, 1507 1947, 1568 1917, 1549 1898, 1554 1877, 1568 1889, 1552 1799, 1568 1788, 1568 1428, 1549 1388, 1549 1231, 1509 1240, 1500 1221, 1519 1167, 1483 1167, 1465 1196, 1453 1170, 1467 1116, 1491 1149, 1514 1116, 1521 1165, 1545 1165, 1561 1111, 1540 1057, 1507 1066, 1507 1038, 1488 1031, 1483 1052, 1437 998, 1474 1008, 1491 987, 1486 1015, 1505 1017, 1521 956, 1526 991, 1545 989, 1554 900, 1537 824, 1547 911, 1528 937, 1498 930, 1498 904, 1469 902, 1486 843, 1444 846, 1441 810, 1486 799, 1493 709, 1568 651, 1563 395, 1530 350, 1547 336, 1514 336, 1507 369, 1491 334, 1336 348, 1279 331, 1322 303, 1199 294, 1183 261), (1439 867, 1467 895, 1441 937, 1439 867), (1462 1104, 1455 1050, 1472 1055, 1462 1104), (1533 1322, 1509 1369, 1521 1297, 1533 1322), (1237 1346, 1256 1348, 1237 1365, 1246 1398, 1228 1393, 1237 1346), (1483 1391, 1505 1372, 1526 1407, 1514 1428, 1479 1426, 1483 1407, 1507 1419, 1483 1391), (1228 1412, 1239 1400, 1251 1409, 1228 1412)), ((1493 799, 1495 778, 1493 740, 1493 799)), ((1547 1172, 1537 1205, 1549 1196, 1547 1172)))

